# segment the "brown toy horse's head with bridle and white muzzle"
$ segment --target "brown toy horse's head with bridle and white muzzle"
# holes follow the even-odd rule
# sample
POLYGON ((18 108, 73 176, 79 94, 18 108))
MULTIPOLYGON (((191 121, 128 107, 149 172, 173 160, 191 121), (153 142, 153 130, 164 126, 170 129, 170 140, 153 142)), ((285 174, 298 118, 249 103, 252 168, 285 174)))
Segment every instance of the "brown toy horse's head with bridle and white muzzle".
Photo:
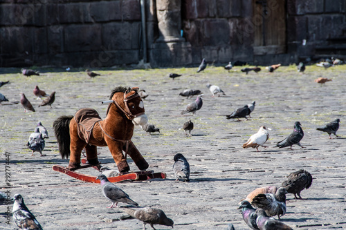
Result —
POLYGON ((125 113, 128 119, 131 119, 132 123, 140 126, 147 124, 148 118, 145 115, 142 98, 138 95, 138 87, 126 88, 122 91, 125 91, 122 96, 117 93, 111 95, 114 104, 125 113), (120 102, 121 100, 122 102, 120 102))

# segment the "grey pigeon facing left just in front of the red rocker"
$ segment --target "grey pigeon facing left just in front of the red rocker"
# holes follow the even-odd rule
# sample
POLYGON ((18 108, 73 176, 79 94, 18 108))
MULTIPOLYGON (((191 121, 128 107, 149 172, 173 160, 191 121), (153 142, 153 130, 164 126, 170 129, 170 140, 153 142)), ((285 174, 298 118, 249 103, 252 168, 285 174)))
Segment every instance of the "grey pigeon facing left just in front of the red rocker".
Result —
POLYGON ((129 198, 129 195, 122 191, 118 186, 115 184, 109 182, 107 179, 107 176, 104 174, 100 174, 96 180, 101 181, 101 186, 102 186, 102 194, 104 195, 105 198, 108 200, 111 200, 112 204, 109 209, 114 207, 114 204, 116 204, 115 207, 117 207, 118 202, 126 203, 126 204, 132 204, 136 207, 138 207, 138 204, 131 200, 129 198))

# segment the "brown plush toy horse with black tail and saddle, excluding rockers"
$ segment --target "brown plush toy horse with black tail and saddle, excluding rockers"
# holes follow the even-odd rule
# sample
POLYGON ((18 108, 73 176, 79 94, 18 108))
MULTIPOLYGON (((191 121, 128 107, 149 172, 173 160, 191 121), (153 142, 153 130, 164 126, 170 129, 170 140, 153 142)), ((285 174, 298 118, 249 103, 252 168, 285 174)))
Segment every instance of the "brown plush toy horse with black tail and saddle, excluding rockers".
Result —
POLYGON ((108 146, 120 173, 129 171, 126 154, 134 160, 138 169, 145 170, 149 164, 131 142, 134 124, 147 124, 144 104, 138 88, 116 87, 112 90, 107 117, 102 120, 92 108, 82 108, 75 116, 58 117, 54 124, 55 137, 62 158, 70 156, 69 170, 80 168, 80 154, 85 148, 89 164, 98 164, 96 146, 108 146))

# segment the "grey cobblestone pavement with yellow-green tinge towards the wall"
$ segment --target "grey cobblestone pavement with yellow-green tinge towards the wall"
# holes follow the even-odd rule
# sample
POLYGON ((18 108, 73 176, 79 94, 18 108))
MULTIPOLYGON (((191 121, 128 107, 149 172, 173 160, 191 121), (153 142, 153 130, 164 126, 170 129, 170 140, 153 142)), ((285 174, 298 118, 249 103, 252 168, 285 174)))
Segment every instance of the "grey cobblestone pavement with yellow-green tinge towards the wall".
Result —
MULTIPOLYGON (((24 77, 19 69, 0 69, 0 81, 10 80, 0 93, 9 102, 0 106, 1 191, 7 191, 6 152, 10 154, 11 196, 20 193, 27 207, 44 229, 143 229, 138 220, 119 220, 121 209, 107 209, 109 200, 103 197, 100 184, 75 180, 57 173, 54 164, 67 166, 62 160, 53 134, 53 122, 60 115, 73 115, 82 107, 95 108, 102 118, 107 105, 100 103, 109 97, 115 86, 139 86, 149 93, 144 100, 149 122, 161 133, 146 136, 135 127, 132 138, 149 162, 149 169, 167 173, 165 180, 121 182, 121 189, 142 207, 163 209, 174 220, 174 229, 249 229, 237 210, 239 201, 253 189, 280 186, 286 175, 306 169, 313 175, 310 189, 302 191, 304 200, 287 195, 287 213, 282 221, 293 229, 346 228, 346 66, 324 70, 307 66, 306 73, 296 72, 295 66, 282 66, 269 74, 264 68, 258 74, 241 73, 233 68, 228 73, 221 67, 209 66, 204 72, 197 68, 163 68, 150 70, 98 70, 100 77, 89 78, 84 70, 71 72, 44 69, 42 75, 24 77), (174 80, 167 75, 181 73, 174 80), (333 79, 325 86, 314 82, 318 77, 333 79), (226 96, 211 97, 207 83, 220 86, 226 96), (53 108, 38 107, 33 88, 38 85, 46 93, 56 91, 53 108), (181 115, 187 104, 194 101, 179 96, 185 88, 200 89, 203 107, 196 115, 181 115), (36 112, 24 113, 19 93, 25 93, 36 112), (225 115, 255 101, 251 119, 226 119, 225 115), (181 130, 188 119, 194 122, 192 137, 181 130), (316 127, 340 118, 339 138, 329 140, 316 127), (48 129, 44 154, 30 156, 28 137, 41 121, 48 129), (299 121, 304 130, 300 142, 305 148, 293 146, 274 148, 276 142, 293 131, 299 121), (260 126, 271 128, 269 148, 256 152, 243 149, 248 138, 260 126), (173 156, 182 153, 190 162, 191 181, 175 182, 173 156)), ((109 149, 98 148, 102 164, 116 167, 109 149)), ((128 160, 131 170, 137 170, 128 160)), ((81 173, 98 175, 94 169, 81 173)), ((120 204, 121 206, 122 204, 120 204)), ((0 227, 6 224, 7 206, 0 206, 0 227)), ((12 206, 11 206, 12 210, 12 206)), ((147 225, 150 229, 149 225, 147 225)), ((156 226, 157 229, 170 227, 156 226)))

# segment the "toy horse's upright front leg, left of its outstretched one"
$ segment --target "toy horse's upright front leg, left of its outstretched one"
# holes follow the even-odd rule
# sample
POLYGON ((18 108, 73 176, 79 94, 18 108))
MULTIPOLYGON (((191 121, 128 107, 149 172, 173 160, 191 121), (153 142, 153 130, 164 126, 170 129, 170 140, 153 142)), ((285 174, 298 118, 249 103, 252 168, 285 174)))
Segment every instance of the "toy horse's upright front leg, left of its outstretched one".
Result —
POLYGON ((122 142, 115 142, 113 140, 107 140, 107 146, 109 151, 111 151, 111 155, 116 162, 116 166, 118 166, 118 170, 120 173, 126 173, 129 171, 129 164, 122 154, 122 146, 124 145, 122 142))

